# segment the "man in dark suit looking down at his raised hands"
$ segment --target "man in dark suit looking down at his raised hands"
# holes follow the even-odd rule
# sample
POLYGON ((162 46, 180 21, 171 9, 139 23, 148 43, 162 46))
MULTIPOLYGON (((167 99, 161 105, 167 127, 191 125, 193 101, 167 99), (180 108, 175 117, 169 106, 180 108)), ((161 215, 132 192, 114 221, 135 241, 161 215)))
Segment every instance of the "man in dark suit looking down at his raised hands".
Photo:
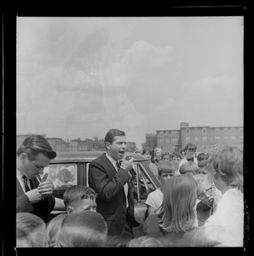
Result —
POLYGON ((26 137, 17 151, 16 212, 31 212, 44 220, 55 207, 53 184, 38 181, 43 168, 56 156, 48 141, 39 135, 26 137))

